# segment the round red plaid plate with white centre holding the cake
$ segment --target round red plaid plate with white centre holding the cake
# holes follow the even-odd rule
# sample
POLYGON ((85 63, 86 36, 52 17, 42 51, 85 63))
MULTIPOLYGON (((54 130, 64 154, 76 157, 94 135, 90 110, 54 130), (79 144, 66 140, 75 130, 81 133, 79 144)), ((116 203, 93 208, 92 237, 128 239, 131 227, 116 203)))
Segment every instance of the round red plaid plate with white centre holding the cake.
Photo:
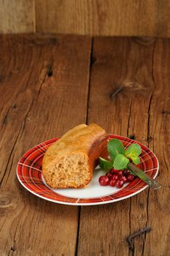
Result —
MULTIPOLYGON (((125 138, 118 135, 108 135, 108 139, 117 138, 123 142, 125 148, 131 143, 138 143, 135 140, 125 138)), ((90 184, 82 189, 50 189, 45 184, 42 177, 42 158, 47 148, 53 144, 56 138, 47 140, 34 148, 31 148, 18 162, 17 176, 20 184, 23 185, 29 192, 49 200, 54 203, 62 203, 73 206, 88 206, 104 203, 114 203, 119 200, 131 197, 138 194, 148 186, 139 178, 129 184, 124 184, 122 189, 115 187, 101 187, 98 184, 98 177, 104 175, 104 171, 97 169, 94 171, 94 176, 90 184)), ((148 173, 152 178, 158 174, 158 159, 155 154, 146 146, 138 143, 142 147, 140 155, 141 162, 139 168, 148 173)))

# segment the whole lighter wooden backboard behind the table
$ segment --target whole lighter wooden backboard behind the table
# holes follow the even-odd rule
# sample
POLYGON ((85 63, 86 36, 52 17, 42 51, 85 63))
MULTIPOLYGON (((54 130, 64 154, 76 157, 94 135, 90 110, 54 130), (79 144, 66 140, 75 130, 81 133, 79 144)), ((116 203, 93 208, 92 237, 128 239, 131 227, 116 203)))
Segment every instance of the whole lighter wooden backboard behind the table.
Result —
POLYGON ((167 0, 0 0, 0 33, 170 37, 167 0))

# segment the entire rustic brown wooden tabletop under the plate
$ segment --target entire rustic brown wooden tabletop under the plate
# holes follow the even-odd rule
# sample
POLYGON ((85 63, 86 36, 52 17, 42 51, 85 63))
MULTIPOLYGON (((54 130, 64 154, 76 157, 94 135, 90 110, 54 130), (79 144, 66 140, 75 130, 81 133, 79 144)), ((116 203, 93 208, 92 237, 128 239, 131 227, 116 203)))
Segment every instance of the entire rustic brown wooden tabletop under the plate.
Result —
POLYGON ((0 46, 0 254, 170 255, 170 39, 2 35, 0 46), (163 187, 83 207, 21 187, 29 148, 91 122, 149 146, 163 187), (125 239, 146 226, 131 252, 125 239))

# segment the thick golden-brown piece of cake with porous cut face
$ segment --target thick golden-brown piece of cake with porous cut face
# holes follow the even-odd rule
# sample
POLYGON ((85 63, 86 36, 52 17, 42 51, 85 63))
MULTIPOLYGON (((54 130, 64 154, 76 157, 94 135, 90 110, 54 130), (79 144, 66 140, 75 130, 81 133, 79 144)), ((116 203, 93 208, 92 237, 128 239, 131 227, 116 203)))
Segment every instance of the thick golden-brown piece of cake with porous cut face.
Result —
POLYGON ((80 124, 50 146, 42 161, 48 186, 80 188, 89 184, 98 157, 107 157, 107 135, 97 124, 80 124))

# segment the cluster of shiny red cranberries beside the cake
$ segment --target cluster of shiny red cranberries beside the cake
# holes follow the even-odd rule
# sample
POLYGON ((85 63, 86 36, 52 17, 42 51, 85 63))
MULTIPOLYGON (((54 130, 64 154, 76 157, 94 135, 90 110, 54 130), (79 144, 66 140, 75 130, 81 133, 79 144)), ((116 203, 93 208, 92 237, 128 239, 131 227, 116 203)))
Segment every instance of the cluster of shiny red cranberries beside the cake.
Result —
POLYGON ((128 169, 115 170, 111 169, 109 173, 98 178, 98 182, 101 186, 111 186, 120 189, 126 182, 134 181, 134 175, 130 174, 128 169))

